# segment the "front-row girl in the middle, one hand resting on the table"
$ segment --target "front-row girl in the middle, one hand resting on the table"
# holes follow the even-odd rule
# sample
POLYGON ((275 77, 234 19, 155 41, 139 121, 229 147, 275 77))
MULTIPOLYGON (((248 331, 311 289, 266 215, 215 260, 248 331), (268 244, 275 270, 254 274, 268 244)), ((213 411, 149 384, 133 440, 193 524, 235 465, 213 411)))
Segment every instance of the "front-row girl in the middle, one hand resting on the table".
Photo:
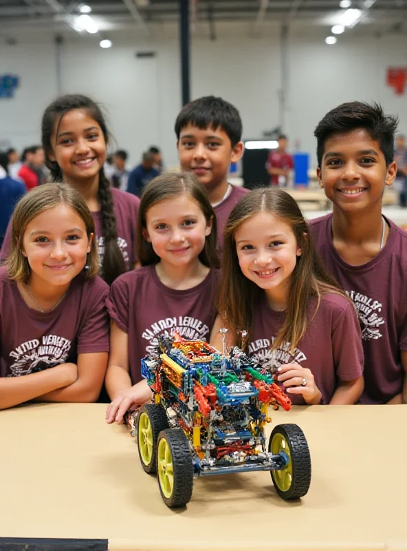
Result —
POLYGON ((140 362, 156 350, 159 334, 209 337, 216 315, 216 242, 214 211, 195 176, 163 174, 148 183, 137 223, 142 267, 120 275, 107 301, 107 422, 121 423, 126 410, 151 399, 140 362))

